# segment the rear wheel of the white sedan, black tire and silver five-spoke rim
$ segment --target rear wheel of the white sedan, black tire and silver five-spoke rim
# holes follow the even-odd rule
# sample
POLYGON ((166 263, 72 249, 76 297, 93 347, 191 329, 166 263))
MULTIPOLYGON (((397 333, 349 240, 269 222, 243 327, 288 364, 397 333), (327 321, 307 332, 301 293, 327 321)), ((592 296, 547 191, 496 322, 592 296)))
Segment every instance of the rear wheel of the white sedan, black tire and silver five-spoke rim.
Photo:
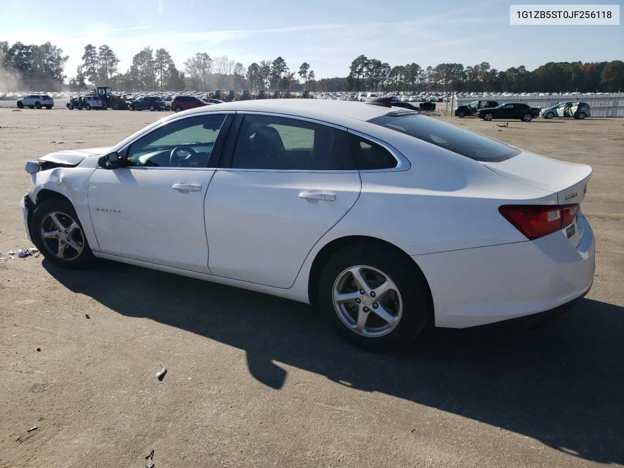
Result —
POLYGON ((416 265, 409 258, 377 243, 351 245, 336 253, 326 263, 318 284, 318 304, 323 314, 342 338, 362 348, 382 350, 409 344, 424 328, 432 310, 426 280, 416 265), (351 268, 358 268, 363 273, 368 280, 367 288, 375 288, 379 284, 379 281, 375 283, 371 280, 381 273, 377 279, 389 279, 396 289, 379 296, 379 303, 371 293, 358 295, 353 302, 336 305, 334 290, 358 294, 357 288, 351 287, 354 278, 348 271, 351 268), (356 318, 360 308, 364 313, 365 304, 370 308, 366 312, 363 328, 358 331, 356 318), (390 313, 393 308, 394 314, 390 313), (391 324, 381 319, 375 310, 386 311, 388 317, 399 318, 391 324))

